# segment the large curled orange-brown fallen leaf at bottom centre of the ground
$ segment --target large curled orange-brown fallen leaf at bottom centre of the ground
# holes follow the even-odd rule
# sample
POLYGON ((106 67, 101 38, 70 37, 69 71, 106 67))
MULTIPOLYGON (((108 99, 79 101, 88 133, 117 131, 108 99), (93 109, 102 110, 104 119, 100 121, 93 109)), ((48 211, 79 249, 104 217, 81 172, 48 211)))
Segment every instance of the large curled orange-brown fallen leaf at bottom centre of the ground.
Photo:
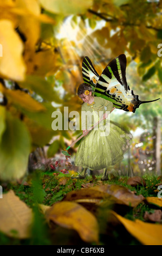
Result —
POLYGON ((48 221, 76 230, 85 242, 98 243, 98 222, 83 206, 74 202, 59 202, 47 209, 45 214, 48 221))

